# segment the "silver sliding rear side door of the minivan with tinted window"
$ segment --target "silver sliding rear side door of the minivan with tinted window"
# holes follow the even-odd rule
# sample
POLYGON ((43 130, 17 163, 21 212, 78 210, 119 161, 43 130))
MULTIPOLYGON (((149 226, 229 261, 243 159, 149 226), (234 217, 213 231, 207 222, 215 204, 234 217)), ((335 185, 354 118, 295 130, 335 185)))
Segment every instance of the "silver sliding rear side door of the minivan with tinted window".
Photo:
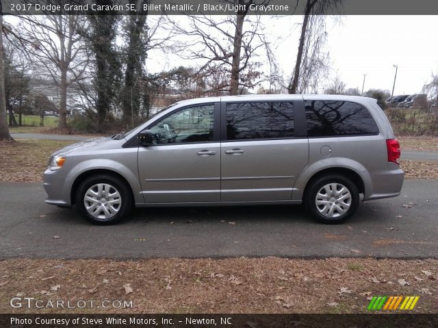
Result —
POLYGON ((309 160, 294 109, 291 101, 227 102, 222 108, 222 202, 292 199, 296 177, 309 160))

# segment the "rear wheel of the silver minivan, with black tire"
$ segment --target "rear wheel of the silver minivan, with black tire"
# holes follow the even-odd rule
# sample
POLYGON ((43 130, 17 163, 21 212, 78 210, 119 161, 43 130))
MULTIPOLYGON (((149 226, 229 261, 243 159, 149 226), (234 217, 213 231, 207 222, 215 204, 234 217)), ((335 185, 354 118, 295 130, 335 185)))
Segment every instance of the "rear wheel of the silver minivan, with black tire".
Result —
POLYGON ((359 190, 356 185, 345 176, 320 176, 310 182, 304 202, 307 210, 318 222, 339 224, 355 214, 359 206, 359 190), (342 190, 341 187, 345 187, 350 195, 348 195, 345 190, 342 190), (336 190, 333 191, 333 189, 336 190), (318 201, 320 205, 317 205, 317 194, 319 191, 321 191, 321 195, 327 195, 327 197, 319 196, 318 201), (342 192, 339 193, 339 191, 342 192), (342 199, 342 202, 338 202, 339 198, 337 199, 336 197, 345 198, 342 199), (327 204, 321 204, 322 202, 327 202, 327 204), (332 208, 333 210, 331 210, 332 208))

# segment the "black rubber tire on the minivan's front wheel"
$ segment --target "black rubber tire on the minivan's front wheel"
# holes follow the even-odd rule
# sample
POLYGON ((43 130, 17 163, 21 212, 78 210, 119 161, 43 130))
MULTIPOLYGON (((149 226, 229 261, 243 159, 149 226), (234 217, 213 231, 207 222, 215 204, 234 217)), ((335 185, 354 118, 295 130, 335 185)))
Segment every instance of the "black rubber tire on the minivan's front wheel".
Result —
MULTIPOLYGON (((97 187, 96 187, 97 188, 97 187)), ((99 189, 94 189, 99 193, 99 189)), ((103 192, 105 192, 105 187, 103 187, 103 192)), ((103 197, 106 197, 105 195, 103 197)), ((90 223, 96 225, 110 225, 114 223, 118 223, 131 211, 133 199, 131 195, 131 189, 127 183, 116 176, 111 176, 109 174, 99 174, 96 176, 90 176, 83 180, 76 191, 76 206, 77 210, 83 217, 85 217, 90 223), (94 215, 88 212, 85 204, 86 193, 88 192, 90 195, 90 189, 98 184, 103 184, 104 186, 108 186, 107 191, 110 192, 110 195, 115 195, 113 198, 106 200, 105 203, 97 203, 96 211, 94 215), (118 192, 118 195, 114 193, 114 191, 118 192), (110 206, 110 202, 120 202, 120 204, 112 204, 110 206), (102 206, 106 206, 103 208, 102 206), (102 210, 99 210, 102 208, 102 210), (99 213, 97 213, 99 211, 99 213), (100 215, 99 215, 100 214, 100 215), (103 216, 107 217, 103 217, 103 216), (100 216, 100 217, 99 217, 100 216)), ((105 200, 105 198, 101 198, 101 195, 96 195, 96 200, 105 200)), ((94 201, 93 202, 97 202, 94 201)), ((92 202, 88 202, 88 204, 93 204, 92 202)))

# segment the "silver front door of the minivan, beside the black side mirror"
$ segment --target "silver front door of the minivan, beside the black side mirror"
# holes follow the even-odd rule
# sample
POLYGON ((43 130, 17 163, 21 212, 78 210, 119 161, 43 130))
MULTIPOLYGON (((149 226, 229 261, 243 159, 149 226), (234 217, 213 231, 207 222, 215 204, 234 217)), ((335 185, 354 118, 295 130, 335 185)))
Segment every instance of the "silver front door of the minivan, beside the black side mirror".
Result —
MULTIPOLYGON (((219 110, 217 104, 216 113, 219 110)), ((183 107, 149 127, 153 145, 138 149, 146 203, 220 202, 214 113, 215 104, 183 107)))

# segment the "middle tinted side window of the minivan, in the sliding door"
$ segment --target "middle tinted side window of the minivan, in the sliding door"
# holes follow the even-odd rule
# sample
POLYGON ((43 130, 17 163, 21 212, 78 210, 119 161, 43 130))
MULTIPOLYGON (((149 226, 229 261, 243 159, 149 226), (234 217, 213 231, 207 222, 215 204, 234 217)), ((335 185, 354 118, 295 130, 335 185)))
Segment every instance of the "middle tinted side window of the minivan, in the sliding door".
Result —
POLYGON ((278 139, 294 137, 292 102, 227 104, 227 139, 278 139))

